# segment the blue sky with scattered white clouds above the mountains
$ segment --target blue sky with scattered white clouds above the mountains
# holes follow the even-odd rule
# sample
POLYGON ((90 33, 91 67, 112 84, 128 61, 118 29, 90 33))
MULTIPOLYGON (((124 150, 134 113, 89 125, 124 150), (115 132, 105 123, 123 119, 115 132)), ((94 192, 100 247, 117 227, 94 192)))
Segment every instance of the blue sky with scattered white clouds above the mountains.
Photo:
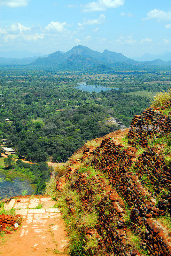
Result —
POLYGON ((0 51, 171 51, 170 0, 0 0, 0 51))

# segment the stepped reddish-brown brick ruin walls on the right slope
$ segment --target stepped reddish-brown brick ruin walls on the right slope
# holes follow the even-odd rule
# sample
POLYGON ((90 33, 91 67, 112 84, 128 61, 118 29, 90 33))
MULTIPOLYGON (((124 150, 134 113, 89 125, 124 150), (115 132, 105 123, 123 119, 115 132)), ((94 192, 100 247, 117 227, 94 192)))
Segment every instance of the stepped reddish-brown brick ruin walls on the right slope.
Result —
MULTIPOLYGON (((171 232, 160 222, 160 218, 171 212, 171 168, 165 162, 163 145, 157 148, 148 145, 150 139, 170 131, 170 116, 171 113, 162 115, 159 108, 149 108, 133 118, 128 132, 129 146, 108 138, 96 149, 84 150, 81 162, 91 159, 91 165, 100 174, 91 176, 89 171, 68 169, 65 181, 78 193, 84 210, 91 212, 94 207, 98 212, 96 227, 84 230, 85 237, 97 237, 93 255, 171 255, 171 232), (144 148, 143 154, 137 154, 139 145, 144 148), (101 200, 94 204, 97 194, 101 200), (131 242, 131 234, 140 238, 139 250, 131 242)), ((60 179, 57 189, 62 189, 60 179)), ((66 201, 74 214, 72 198, 66 201)))

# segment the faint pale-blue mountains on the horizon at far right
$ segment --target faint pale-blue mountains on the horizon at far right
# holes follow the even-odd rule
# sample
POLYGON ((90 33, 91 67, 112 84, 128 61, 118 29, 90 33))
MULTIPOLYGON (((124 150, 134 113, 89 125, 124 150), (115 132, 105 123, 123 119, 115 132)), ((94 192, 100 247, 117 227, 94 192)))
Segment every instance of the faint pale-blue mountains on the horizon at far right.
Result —
POLYGON ((156 60, 158 58, 160 58, 163 61, 169 61, 169 60, 171 60, 171 52, 166 51, 166 52, 163 52, 163 53, 160 53, 160 54, 155 54, 155 55, 152 55, 150 53, 146 53, 141 57, 134 57, 133 59, 137 60, 137 61, 153 61, 153 60, 156 60))

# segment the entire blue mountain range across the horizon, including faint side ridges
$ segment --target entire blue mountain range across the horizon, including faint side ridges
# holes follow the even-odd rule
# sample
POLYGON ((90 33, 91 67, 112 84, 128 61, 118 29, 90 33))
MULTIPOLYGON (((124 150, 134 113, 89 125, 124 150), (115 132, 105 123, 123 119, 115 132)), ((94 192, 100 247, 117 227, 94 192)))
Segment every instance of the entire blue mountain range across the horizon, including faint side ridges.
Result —
MULTIPOLYGON (((18 54, 17 56, 23 56, 22 54, 27 54, 28 56, 28 54, 31 55, 33 53, 29 51, 22 51, 20 53, 18 51, 17 53, 15 51, 15 54, 18 54)), ((115 67, 136 66, 138 68, 171 65, 171 52, 167 52, 161 56, 158 55, 155 60, 147 61, 133 60, 127 58, 122 53, 110 52, 108 50, 105 50, 103 53, 97 52, 82 45, 75 46, 67 52, 57 51, 49 55, 40 55, 42 53, 36 54, 39 54, 39 56, 31 56, 27 58, 0 57, 0 65, 27 65, 28 67, 57 68, 58 70, 86 70, 89 68, 94 70, 110 70, 115 67), (159 58, 164 55, 167 55, 167 62, 159 58)))

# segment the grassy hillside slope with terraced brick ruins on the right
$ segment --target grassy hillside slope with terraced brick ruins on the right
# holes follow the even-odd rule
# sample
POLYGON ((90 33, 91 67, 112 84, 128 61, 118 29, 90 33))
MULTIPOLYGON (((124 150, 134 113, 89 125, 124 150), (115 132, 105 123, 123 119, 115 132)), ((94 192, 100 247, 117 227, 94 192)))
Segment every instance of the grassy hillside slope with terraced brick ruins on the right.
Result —
POLYGON ((171 255, 170 106, 71 157, 56 188, 73 255, 171 255))

